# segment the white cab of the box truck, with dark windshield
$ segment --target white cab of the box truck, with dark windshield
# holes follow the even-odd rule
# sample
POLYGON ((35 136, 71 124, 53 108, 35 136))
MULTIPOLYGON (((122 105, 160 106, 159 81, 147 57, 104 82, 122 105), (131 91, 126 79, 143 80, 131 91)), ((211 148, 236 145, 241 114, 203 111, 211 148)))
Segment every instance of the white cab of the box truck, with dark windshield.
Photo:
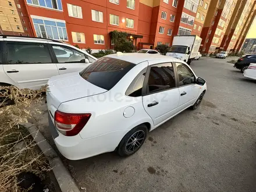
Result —
POLYGON ((188 62, 190 56, 190 47, 189 45, 173 45, 170 47, 166 55, 180 59, 184 62, 188 62))

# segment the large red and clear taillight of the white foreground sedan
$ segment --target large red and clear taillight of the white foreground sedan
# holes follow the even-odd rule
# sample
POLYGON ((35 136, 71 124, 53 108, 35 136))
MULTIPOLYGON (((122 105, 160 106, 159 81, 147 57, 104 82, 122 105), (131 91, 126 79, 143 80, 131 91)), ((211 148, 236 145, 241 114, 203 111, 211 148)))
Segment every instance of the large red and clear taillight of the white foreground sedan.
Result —
POLYGON ((65 136, 75 136, 83 129, 90 117, 91 113, 74 114, 56 111, 55 126, 65 136))

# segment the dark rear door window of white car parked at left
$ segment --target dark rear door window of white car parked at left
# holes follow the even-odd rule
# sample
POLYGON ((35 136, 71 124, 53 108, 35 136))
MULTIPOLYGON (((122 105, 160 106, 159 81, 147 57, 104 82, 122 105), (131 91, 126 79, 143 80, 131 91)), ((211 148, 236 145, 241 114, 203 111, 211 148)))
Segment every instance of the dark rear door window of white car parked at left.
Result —
POLYGON ((47 44, 7 42, 6 52, 11 64, 52 63, 47 44))

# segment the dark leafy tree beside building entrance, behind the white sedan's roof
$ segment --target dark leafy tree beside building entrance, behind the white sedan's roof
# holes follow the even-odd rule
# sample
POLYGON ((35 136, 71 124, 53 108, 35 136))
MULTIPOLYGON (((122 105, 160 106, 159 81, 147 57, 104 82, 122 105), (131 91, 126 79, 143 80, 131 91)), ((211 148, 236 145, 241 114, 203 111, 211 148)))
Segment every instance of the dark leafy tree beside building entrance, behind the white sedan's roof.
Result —
POLYGON ((127 33, 123 31, 112 31, 112 41, 115 51, 131 52, 134 50, 132 42, 127 40, 127 33))

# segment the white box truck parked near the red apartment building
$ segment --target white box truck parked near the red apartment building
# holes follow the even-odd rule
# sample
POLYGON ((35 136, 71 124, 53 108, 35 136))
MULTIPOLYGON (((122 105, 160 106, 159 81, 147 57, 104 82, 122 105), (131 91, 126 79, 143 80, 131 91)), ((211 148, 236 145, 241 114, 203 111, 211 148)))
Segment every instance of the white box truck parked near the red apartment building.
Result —
POLYGON ((197 35, 176 35, 166 55, 178 58, 190 65, 197 55, 201 41, 202 38, 197 35))

